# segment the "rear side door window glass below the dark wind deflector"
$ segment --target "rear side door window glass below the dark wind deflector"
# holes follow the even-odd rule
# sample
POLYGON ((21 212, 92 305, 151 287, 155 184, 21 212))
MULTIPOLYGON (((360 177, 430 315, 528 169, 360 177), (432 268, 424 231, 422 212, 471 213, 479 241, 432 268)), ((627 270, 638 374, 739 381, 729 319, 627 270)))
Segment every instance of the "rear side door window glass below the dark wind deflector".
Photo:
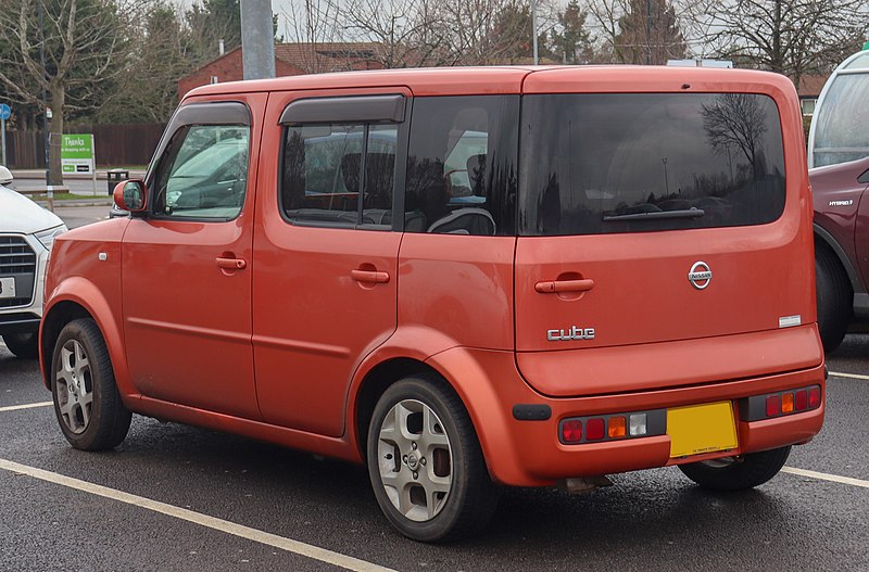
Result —
POLYGON ((396 140, 394 125, 288 128, 281 189, 287 219, 325 225, 390 225, 396 140), (360 189, 363 168, 365 181, 360 189))

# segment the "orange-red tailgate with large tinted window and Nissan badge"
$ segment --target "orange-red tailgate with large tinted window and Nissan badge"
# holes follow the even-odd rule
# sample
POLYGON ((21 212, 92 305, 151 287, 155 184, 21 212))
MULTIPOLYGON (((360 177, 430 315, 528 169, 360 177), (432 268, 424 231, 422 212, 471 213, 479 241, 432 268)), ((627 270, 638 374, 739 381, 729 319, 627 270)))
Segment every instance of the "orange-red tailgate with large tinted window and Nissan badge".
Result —
POLYGON ((695 92, 682 77, 637 92, 641 82, 594 73, 526 80, 515 288, 531 384, 557 395, 651 389, 613 376, 626 360, 650 367, 631 347, 811 323, 807 193, 804 164, 784 160, 786 98, 763 85, 695 92), (578 369, 553 374, 541 352, 568 352, 578 369))

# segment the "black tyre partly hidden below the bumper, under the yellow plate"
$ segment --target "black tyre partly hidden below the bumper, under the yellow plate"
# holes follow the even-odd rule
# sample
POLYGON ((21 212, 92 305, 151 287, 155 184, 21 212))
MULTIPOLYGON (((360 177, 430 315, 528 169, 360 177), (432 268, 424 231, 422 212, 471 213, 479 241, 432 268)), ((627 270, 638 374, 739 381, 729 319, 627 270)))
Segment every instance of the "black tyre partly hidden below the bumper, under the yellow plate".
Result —
POLYGON ((745 491, 761 485, 784 467, 791 446, 750 453, 740 457, 680 465, 682 472, 706 488, 745 491))

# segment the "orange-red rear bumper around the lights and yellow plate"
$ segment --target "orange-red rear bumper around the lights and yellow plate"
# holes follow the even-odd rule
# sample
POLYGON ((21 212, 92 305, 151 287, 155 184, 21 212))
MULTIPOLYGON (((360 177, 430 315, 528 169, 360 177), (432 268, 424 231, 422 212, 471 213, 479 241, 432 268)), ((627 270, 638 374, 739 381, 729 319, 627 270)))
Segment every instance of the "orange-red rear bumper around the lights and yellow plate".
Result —
POLYGON ((507 485, 545 486, 571 476, 612 474, 767 450, 805 443, 820 431, 823 423, 823 364, 788 373, 690 387, 553 398, 537 393, 525 383, 516 370, 512 353, 453 349, 434 359, 437 364, 433 365, 445 372, 468 407, 492 478, 507 485), (468 359, 474 359, 477 367, 469 367, 468 359), (489 387, 481 390, 482 380, 470 379, 474 371, 486 372, 484 383, 489 387), (459 374, 454 377, 452 372, 459 374), (579 445, 565 445, 558 440, 558 423, 568 417, 720 401, 733 401, 734 411, 738 411, 738 401, 743 397, 808 385, 821 386, 822 398, 818 409, 752 422, 740 420, 736 414, 738 448, 726 453, 670 458, 670 437, 667 435, 579 445), (516 404, 549 406, 552 415, 540 421, 517 420, 513 417, 516 404))

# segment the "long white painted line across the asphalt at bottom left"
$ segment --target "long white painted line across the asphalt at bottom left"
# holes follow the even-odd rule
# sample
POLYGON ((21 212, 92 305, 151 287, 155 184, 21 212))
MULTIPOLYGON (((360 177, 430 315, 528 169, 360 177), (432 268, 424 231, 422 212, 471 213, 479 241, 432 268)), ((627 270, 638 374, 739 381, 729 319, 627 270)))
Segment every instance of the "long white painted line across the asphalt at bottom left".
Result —
POLYGON ((75 488, 76 491, 83 491, 91 495, 111 498, 112 500, 117 500, 119 503, 126 503, 127 505, 160 512, 161 514, 166 514, 167 517, 186 520, 187 522, 192 522, 215 531, 231 534, 232 536, 265 544, 274 548, 280 548, 281 550, 304 556, 313 560, 319 560, 320 562, 333 564, 345 570, 353 570, 356 572, 394 572, 389 568, 366 562, 365 560, 360 560, 351 556, 344 556, 325 548, 319 548, 317 546, 293 541, 291 538, 285 538, 284 536, 251 529, 250 526, 236 524, 235 522, 229 522, 215 517, 209 517, 207 514, 201 514, 192 510, 160 503, 159 500, 152 500, 150 498, 131 495, 129 493, 124 493, 123 491, 109 488, 108 486, 89 483, 87 481, 80 481, 78 479, 73 479, 72 476, 65 476, 51 471, 45 471, 42 469, 37 469, 36 467, 28 467, 26 465, 18 465, 17 462, 7 459, 0 459, 0 469, 18 474, 25 474, 27 476, 33 476, 34 479, 39 479, 41 481, 47 481, 49 483, 59 484, 70 488, 75 488))

